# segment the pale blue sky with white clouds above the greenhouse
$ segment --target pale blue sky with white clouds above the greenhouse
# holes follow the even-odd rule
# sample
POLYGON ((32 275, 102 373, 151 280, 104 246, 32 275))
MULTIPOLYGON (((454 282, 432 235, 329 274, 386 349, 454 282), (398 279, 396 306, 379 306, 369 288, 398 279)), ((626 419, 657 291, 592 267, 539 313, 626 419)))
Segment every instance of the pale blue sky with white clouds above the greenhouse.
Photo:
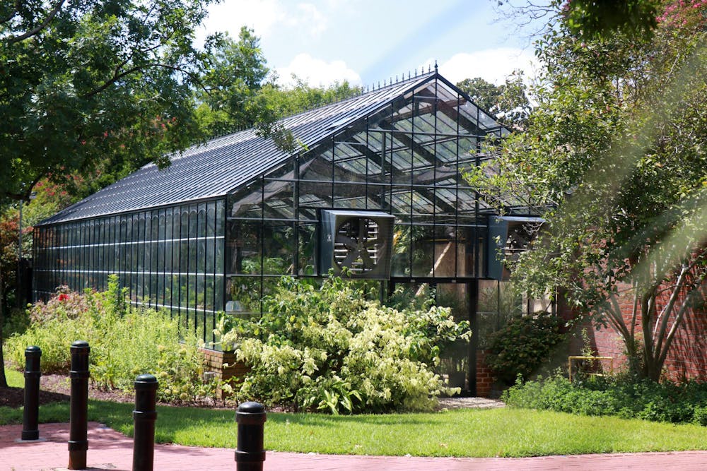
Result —
POLYGON ((492 0, 222 0, 197 39, 245 25, 260 37, 282 85, 291 74, 311 86, 381 85, 433 66, 457 83, 500 85, 515 69, 532 76, 527 35, 498 20, 492 0))

